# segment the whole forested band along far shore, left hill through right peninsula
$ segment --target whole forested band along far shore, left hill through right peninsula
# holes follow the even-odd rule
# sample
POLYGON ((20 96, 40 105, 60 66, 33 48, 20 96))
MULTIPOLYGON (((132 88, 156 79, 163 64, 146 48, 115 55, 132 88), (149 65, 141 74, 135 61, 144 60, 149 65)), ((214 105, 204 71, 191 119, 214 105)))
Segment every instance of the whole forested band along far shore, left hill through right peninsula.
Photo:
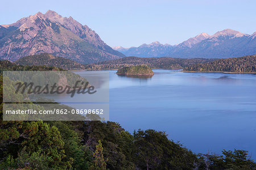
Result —
MULTIPOLYGON (((18 65, 36 65, 59 67, 66 70, 108 70, 120 69, 122 67, 146 65, 158 69, 183 69, 195 72, 231 72, 231 73, 255 73, 256 55, 226 59, 206 58, 171 58, 171 57, 124 57, 109 61, 102 61, 88 65, 82 65, 63 57, 55 57, 51 54, 39 54, 27 56, 15 62, 18 65)), ((41 66, 42 67, 42 66, 41 66)))

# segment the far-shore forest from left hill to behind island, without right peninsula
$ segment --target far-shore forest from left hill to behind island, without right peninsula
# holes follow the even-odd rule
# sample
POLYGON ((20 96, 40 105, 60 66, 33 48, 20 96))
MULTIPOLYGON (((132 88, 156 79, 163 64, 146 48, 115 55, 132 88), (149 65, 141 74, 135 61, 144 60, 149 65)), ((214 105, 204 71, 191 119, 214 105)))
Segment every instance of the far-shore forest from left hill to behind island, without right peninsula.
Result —
POLYGON ((206 63, 215 59, 206 58, 171 58, 171 57, 124 57, 108 61, 97 62, 93 64, 83 65, 72 61, 71 59, 52 56, 51 54, 43 53, 35 56, 26 56, 15 61, 17 65, 24 66, 54 66, 66 70, 105 70, 105 69, 120 69, 122 67, 146 65, 151 68, 158 69, 183 69, 189 65, 196 63, 206 63))

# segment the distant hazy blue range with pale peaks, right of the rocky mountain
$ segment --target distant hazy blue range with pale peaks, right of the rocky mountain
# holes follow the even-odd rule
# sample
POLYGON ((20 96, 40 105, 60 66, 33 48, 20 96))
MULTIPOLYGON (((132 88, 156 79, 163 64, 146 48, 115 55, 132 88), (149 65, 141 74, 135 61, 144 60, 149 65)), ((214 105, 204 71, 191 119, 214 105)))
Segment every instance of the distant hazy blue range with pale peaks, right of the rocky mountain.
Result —
POLYGON ((137 57, 179 57, 179 58, 229 58, 256 54, 256 32, 247 35, 232 29, 224 29, 210 36, 201 33, 177 45, 142 44, 138 47, 113 49, 126 56, 137 57))

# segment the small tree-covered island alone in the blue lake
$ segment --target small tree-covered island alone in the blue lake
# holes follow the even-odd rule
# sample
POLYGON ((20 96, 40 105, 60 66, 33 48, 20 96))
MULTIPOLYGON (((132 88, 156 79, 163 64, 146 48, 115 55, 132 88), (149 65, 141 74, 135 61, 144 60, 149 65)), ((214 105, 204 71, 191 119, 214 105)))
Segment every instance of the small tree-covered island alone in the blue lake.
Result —
POLYGON ((154 72, 147 66, 130 66, 123 67, 122 69, 118 69, 118 75, 147 75, 152 76, 154 72))

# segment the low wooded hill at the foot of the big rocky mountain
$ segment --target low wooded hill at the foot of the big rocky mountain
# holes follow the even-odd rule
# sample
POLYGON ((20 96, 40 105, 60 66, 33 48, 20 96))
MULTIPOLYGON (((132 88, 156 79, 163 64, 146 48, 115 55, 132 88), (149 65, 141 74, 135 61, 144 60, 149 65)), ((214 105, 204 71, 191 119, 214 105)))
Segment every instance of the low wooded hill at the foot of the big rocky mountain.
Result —
POLYGON ((47 53, 22 57, 14 63, 22 66, 54 66, 65 70, 85 69, 85 65, 81 63, 68 58, 52 56, 47 53))

